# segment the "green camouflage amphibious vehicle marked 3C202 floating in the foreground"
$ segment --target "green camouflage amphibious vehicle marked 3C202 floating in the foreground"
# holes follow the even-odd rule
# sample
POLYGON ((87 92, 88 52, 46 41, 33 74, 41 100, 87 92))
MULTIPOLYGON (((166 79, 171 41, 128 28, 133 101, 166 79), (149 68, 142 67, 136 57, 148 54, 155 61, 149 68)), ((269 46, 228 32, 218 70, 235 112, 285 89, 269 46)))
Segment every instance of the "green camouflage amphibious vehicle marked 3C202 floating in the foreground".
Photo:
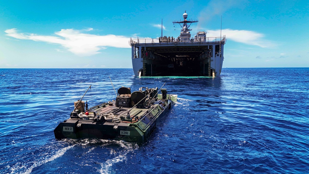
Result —
POLYGON ((144 143, 177 101, 177 95, 167 94, 162 87, 141 87, 133 93, 130 88, 121 87, 116 100, 89 109, 88 103, 82 101, 83 96, 74 102, 70 118, 55 128, 55 138, 94 137, 144 143))

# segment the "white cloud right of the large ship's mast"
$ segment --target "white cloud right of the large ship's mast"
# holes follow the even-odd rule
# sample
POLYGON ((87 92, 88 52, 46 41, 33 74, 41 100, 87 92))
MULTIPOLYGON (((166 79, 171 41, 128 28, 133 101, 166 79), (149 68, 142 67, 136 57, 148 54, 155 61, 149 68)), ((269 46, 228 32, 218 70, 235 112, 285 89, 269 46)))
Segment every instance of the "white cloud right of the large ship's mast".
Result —
MULTIPOLYGON (((256 33, 254 31, 223 29, 222 37, 223 35, 226 35, 226 39, 245 43, 248 45, 260 46, 262 48, 277 46, 277 44, 273 43, 272 41, 264 39, 264 34, 256 33)), ((207 36, 218 37, 220 36, 220 30, 208 30, 207 36)))

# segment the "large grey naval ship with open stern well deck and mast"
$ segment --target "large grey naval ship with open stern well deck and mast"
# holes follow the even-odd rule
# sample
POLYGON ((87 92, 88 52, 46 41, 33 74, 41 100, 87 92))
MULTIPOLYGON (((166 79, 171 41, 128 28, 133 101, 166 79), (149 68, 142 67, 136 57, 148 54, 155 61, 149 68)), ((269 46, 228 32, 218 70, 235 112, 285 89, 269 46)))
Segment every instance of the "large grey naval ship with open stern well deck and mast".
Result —
MULTIPOLYGON (((178 37, 130 39, 132 65, 135 76, 220 76, 225 36, 206 37, 197 32, 191 37, 192 23, 198 20, 174 21, 181 32, 178 37)), ((220 34, 221 35, 221 34, 220 34)))

